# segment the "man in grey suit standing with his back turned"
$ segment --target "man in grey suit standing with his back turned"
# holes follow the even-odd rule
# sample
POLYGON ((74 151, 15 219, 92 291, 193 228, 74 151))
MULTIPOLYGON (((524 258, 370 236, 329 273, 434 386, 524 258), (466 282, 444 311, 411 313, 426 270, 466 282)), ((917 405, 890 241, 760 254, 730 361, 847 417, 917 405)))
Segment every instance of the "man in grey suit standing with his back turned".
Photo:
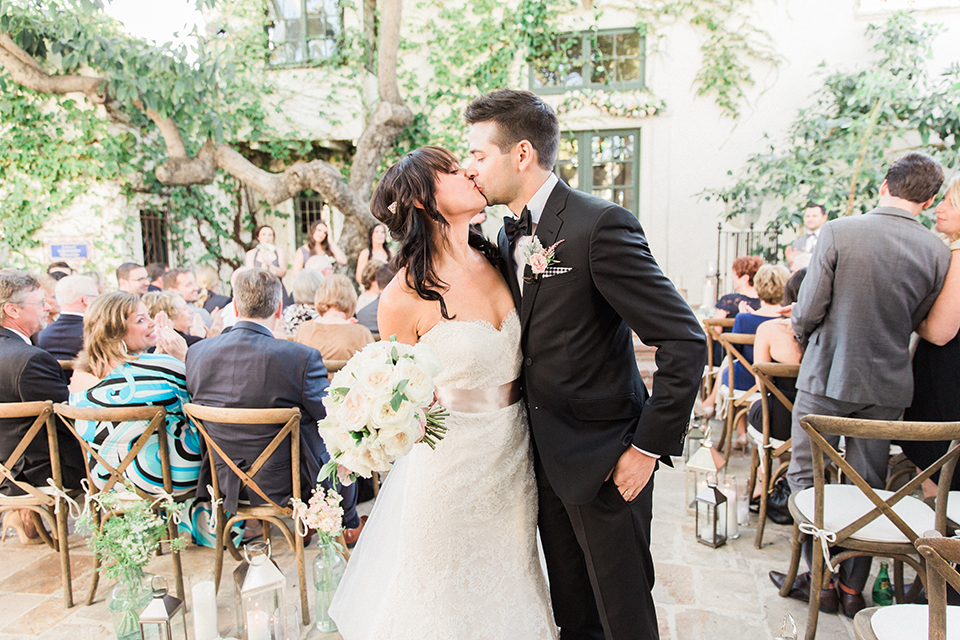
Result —
MULTIPOLYGON (((806 345, 793 407, 793 455, 787 480, 793 492, 813 486, 810 439, 800 427, 809 414, 896 420, 913 397, 910 333, 930 311, 950 252, 920 224, 943 183, 940 164, 923 153, 897 160, 880 186, 876 209, 828 222, 820 232, 793 309, 793 329, 806 345)), ((836 445, 837 436, 827 437, 836 445)), ((883 488, 890 443, 847 439, 847 461, 872 487, 883 488)), ((804 547, 809 563, 810 542, 804 547)), ((821 610, 838 607, 852 618, 870 558, 841 565, 839 589, 824 590, 821 610)), ((778 587, 784 575, 771 571, 778 587)), ((809 574, 790 593, 809 598, 809 574)))

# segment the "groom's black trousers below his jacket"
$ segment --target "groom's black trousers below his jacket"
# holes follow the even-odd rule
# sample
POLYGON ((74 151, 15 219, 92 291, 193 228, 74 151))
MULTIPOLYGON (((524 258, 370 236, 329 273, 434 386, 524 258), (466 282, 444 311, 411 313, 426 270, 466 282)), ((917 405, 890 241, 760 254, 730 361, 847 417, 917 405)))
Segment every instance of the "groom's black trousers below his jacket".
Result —
POLYGON ((611 479, 592 501, 572 505, 554 493, 539 460, 536 471, 540 540, 560 640, 658 640, 650 593, 653 476, 633 502, 611 479))

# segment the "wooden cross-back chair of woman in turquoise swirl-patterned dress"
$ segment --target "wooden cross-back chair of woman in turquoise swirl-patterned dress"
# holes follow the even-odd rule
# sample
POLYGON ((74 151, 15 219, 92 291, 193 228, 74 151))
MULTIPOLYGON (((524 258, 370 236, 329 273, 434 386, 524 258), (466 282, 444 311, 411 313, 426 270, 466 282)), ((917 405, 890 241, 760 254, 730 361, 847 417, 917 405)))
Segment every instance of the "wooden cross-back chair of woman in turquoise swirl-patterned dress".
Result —
MULTIPOLYGON (((96 461, 109 475, 103 486, 98 487, 97 490, 99 492, 103 493, 116 489, 118 484, 120 487, 124 487, 124 472, 130 467, 131 464, 133 464, 137 454, 139 454, 140 451, 147 445, 147 442, 150 440, 150 438, 156 437, 160 449, 160 468, 163 479, 163 490, 168 495, 172 494, 173 477, 170 471, 170 447, 169 443, 167 442, 167 410, 164 407, 152 405, 139 407, 74 407, 72 405, 60 403, 54 405, 53 409, 60 419, 63 420, 64 424, 67 425, 67 428, 70 429, 70 432, 80 444, 80 447, 83 449, 87 459, 96 461), (137 437, 136 441, 133 443, 133 446, 130 447, 130 450, 120 461, 120 464, 113 466, 107 462, 102 455, 100 455, 100 453, 88 440, 80 435, 76 427, 77 420, 87 420, 97 423, 140 421, 146 422, 147 425, 144 427, 143 433, 137 437)), ((90 467, 91 465, 88 463, 86 465, 87 482, 90 483, 90 490, 94 491, 94 487, 97 487, 97 484, 94 483, 94 478, 90 473, 90 467)), ((133 488, 137 495, 144 500, 153 501, 158 497, 161 497, 159 493, 153 494, 144 491, 136 485, 133 485, 133 488)), ((191 492, 190 494, 178 496, 176 499, 178 501, 183 501, 192 495, 193 493, 191 492)), ((110 513, 102 512, 99 504, 95 500, 91 500, 90 504, 90 515, 93 520, 93 526, 95 527, 102 527, 109 518, 113 517, 114 515, 119 515, 119 512, 117 511, 110 513)), ((177 525, 172 517, 167 518, 167 535, 170 540, 173 540, 177 536, 177 525)), ((93 579, 90 583, 90 594, 87 596, 87 605, 93 604, 94 598, 96 598, 97 595, 97 586, 99 584, 100 558, 97 554, 93 555, 93 562, 94 572, 93 579)), ((180 561, 179 551, 173 551, 173 572, 175 582, 177 583, 177 597, 183 599, 183 566, 180 561)))

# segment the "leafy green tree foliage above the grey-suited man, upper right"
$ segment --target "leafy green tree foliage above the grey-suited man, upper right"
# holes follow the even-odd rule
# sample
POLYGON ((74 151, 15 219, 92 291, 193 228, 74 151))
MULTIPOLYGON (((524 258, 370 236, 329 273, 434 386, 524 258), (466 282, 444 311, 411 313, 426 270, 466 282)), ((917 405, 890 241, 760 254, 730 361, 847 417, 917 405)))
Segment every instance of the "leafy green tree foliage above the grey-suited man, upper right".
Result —
POLYGON ((751 156, 733 185, 704 195, 726 203, 728 218, 765 202, 774 205, 771 226, 798 227, 808 202, 824 204, 831 217, 868 211, 887 167, 912 148, 955 165, 960 68, 940 78, 927 72, 938 30, 905 13, 871 25, 878 60, 861 71, 825 71, 816 104, 798 112, 785 139, 751 156))

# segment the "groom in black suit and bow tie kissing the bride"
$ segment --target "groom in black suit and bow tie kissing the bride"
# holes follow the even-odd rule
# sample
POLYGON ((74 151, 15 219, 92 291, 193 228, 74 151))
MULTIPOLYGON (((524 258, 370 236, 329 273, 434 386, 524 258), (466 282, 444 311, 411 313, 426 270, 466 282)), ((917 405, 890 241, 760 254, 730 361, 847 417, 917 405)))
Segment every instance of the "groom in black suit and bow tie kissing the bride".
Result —
POLYGON ((523 327, 540 537, 560 637, 656 639, 653 472, 661 456, 669 464, 681 452, 703 332, 637 219, 552 172, 560 130, 549 106, 501 89, 465 115, 467 175, 487 202, 518 216, 504 220, 499 246, 523 327), (531 235, 545 251, 534 251, 531 235), (631 329, 657 347, 651 397, 631 329))

